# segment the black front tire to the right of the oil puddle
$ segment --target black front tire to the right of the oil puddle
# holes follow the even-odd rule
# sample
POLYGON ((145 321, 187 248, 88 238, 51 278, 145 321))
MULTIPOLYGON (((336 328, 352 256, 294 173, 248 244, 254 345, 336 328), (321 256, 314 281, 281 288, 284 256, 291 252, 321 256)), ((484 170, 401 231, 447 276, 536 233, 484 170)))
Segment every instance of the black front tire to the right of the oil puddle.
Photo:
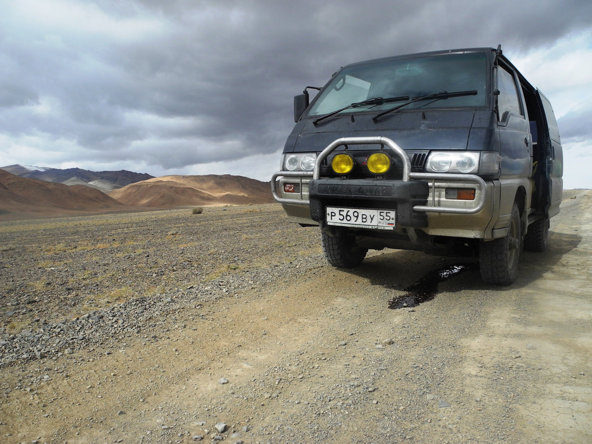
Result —
POLYGON ((479 246, 481 278, 487 284, 510 285, 516 278, 518 259, 522 250, 520 231, 520 211, 514 202, 506 236, 481 242, 479 246))

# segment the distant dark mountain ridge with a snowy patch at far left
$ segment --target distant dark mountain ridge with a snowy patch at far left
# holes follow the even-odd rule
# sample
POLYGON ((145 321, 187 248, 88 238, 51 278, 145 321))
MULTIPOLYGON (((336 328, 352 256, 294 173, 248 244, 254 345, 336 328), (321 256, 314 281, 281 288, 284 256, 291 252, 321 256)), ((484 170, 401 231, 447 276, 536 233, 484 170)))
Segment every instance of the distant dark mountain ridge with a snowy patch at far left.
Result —
POLYGON ((46 166, 8 165, 2 168, 9 173, 30 179, 38 179, 44 182, 57 182, 66 185, 84 185, 98 189, 104 193, 113 191, 135 182, 152 179, 146 173, 134 173, 133 171, 90 171, 81 168, 49 168, 46 166))

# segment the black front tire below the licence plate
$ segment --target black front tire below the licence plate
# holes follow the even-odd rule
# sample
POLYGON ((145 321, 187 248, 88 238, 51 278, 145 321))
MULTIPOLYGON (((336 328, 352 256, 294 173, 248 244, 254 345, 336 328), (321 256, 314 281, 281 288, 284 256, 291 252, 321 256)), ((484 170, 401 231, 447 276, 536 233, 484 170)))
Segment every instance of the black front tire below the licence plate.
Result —
POLYGON ((368 253, 368 249, 356 243, 355 236, 346 227, 331 227, 321 231, 321 247, 327 262, 335 267, 351 268, 359 265, 368 253))

